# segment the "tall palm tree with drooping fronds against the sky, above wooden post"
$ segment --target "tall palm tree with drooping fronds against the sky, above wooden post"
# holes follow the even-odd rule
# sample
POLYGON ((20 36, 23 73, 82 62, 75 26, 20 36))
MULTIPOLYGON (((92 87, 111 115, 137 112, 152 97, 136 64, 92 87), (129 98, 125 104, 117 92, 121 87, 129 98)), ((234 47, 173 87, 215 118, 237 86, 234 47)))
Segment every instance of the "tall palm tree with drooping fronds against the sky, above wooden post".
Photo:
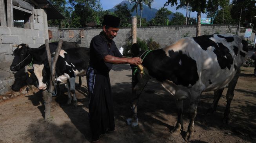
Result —
POLYGON ((134 3, 131 11, 136 10, 136 14, 138 15, 138 6, 140 7, 140 27, 142 25, 142 9, 143 9, 143 4, 147 5, 151 9, 151 3, 153 1, 154 0, 131 0, 131 3, 134 3))

